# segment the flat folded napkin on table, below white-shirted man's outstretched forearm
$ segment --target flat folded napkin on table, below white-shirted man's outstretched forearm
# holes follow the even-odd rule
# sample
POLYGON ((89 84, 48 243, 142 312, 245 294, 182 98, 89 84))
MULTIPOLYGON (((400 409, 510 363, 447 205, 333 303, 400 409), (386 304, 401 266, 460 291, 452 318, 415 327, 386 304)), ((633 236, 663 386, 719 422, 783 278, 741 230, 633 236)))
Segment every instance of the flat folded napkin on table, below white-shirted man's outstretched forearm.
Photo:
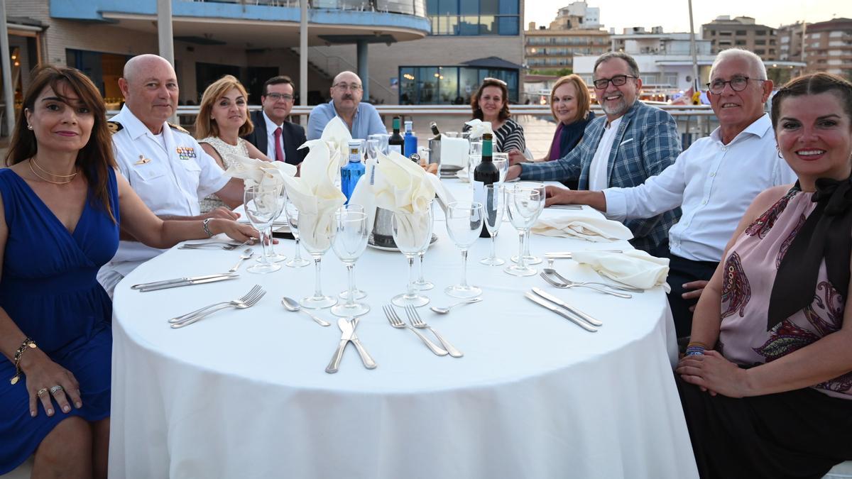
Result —
POLYGON ((620 222, 607 220, 597 211, 560 210, 555 214, 542 216, 530 229, 534 234, 579 238, 596 243, 633 238, 629 228, 620 222))

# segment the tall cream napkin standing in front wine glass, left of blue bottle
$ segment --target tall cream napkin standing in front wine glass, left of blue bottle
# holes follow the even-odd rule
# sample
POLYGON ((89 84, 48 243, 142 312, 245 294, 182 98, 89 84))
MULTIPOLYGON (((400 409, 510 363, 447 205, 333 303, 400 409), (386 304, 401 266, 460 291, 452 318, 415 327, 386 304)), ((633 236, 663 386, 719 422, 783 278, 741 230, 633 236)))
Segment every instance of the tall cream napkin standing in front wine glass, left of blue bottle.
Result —
POLYGON ((310 151, 302 161, 301 176, 285 176, 287 196, 299 211, 299 236, 318 249, 328 246, 337 228, 334 212, 346 202, 334 184, 340 165, 329 145, 322 139, 306 141, 302 147, 310 151))

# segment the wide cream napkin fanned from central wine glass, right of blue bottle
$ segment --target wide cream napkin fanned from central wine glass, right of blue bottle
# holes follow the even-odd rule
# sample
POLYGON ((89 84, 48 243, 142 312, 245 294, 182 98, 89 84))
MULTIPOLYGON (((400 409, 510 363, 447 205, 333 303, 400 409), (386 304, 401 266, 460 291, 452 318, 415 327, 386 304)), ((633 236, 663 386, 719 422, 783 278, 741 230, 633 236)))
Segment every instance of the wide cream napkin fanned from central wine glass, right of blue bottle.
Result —
MULTIPOLYGON (((378 162, 368 162, 366 175, 355 186, 349 204, 362 205, 367 213, 368 228, 372 230, 376 208, 406 213, 422 214, 429 210, 429 203, 436 193, 446 195, 435 175, 427 173, 418 164, 400 153, 379 154, 378 162)), ((447 197, 448 198, 448 197, 447 197)), ((405 234, 412 239, 421 238, 429 224, 412 223, 405 234)))

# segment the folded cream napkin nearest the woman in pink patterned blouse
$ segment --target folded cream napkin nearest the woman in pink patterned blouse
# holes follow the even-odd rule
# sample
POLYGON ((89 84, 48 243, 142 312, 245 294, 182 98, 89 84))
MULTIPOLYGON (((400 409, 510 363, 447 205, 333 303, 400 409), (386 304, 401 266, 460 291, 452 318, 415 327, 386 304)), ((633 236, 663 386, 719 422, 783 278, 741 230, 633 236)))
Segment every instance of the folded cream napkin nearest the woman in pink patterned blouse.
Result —
POLYGON ((662 285, 665 292, 671 291, 665 282, 669 274, 669 258, 653 257, 642 250, 623 253, 573 251, 571 254, 577 263, 588 264, 603 276, 625 285, 643 290, 662 285))

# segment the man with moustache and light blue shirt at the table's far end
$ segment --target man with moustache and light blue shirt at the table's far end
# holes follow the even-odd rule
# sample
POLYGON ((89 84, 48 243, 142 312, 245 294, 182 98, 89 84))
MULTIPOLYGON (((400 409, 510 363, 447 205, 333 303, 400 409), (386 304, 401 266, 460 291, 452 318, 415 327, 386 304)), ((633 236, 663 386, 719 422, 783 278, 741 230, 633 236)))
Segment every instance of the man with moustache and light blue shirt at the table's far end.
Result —
POLYGON ((353 138, 366 140, 376 133, 388 130, 378 116, 376 107, 361 102, 364 88, 361 79, 354 72, 340 72, 331 82, 331 101, 317 105, 308 118, 308 140, 322 136, 325 125, 331 118, 340 117, 353 138))

